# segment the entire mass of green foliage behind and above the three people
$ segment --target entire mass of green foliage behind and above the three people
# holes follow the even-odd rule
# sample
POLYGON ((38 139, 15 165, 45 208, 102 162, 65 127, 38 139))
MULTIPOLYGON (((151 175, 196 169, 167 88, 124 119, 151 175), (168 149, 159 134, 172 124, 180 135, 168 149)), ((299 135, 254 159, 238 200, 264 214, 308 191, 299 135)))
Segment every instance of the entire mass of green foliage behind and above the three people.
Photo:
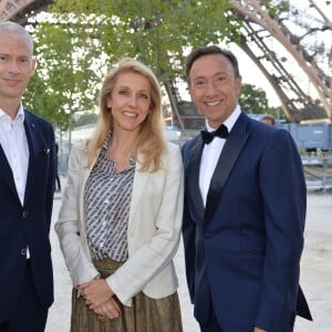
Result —
POLYGON ((162 84, 184 76, 189 49, 238 40, 228 0, 55 0, 34 24, 37 73, 24 103, 62 131, 92 112, 107 68, 123 56, 149 65, 162 84))

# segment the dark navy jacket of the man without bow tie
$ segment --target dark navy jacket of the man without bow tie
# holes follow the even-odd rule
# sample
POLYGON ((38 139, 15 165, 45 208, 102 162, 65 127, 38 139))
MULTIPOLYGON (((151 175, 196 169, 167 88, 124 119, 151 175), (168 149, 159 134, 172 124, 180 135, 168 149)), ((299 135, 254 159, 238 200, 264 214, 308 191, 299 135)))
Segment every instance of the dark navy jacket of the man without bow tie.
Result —
POLYGON ((24 110, 29 166, 23 205, 0 145, 0 322, 14 309, 23 280, 29 246, 33 281, 44 308, 53 302, 49 239, 55 178, 53 127, 24 110))

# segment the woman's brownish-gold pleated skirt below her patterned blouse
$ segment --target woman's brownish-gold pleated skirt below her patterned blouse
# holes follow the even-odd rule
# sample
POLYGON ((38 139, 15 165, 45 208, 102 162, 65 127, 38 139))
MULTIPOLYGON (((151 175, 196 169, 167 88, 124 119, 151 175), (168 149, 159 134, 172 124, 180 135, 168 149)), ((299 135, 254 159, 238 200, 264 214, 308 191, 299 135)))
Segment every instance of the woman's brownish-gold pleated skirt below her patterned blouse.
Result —
MULTIPOLYGON (((95 260, 102 278, 107 278, 122 263, 110 258, 95 260)), ((137 271, 138 272, 138 271, 137 271)), ((117 319, 103 319, 89 309, 77 291, 72 293, 71 332, 181 332, 181 314, 178 294, 152 299, 139 292, 132 307, 123 305, 117 319)))

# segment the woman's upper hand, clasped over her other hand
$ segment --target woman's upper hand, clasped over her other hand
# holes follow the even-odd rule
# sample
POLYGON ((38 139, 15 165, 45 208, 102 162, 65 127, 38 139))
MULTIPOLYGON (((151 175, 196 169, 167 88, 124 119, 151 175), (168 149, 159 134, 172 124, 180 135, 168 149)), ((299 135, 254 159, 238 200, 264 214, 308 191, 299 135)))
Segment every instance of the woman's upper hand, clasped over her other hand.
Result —
POLYGON ((94 279, 90 282, 79 284, 76 288, 80 290, 86 304, 93 310, 114 295, 105 279, 94 279))

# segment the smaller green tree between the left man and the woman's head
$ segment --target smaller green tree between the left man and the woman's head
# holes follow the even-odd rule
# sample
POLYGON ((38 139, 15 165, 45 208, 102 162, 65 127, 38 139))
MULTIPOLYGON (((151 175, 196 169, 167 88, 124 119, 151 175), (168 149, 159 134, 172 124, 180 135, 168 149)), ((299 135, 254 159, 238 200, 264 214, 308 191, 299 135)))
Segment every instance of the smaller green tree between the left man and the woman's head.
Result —
POLYGON ((71 133, 73 114, 94 110, 96 82, 102 75, 96 61, 100 52, 86 38, 85 29, 55 19, 37 24, 32 32, 37 71, 24 94, 24 105, 60 131, 71 133))

